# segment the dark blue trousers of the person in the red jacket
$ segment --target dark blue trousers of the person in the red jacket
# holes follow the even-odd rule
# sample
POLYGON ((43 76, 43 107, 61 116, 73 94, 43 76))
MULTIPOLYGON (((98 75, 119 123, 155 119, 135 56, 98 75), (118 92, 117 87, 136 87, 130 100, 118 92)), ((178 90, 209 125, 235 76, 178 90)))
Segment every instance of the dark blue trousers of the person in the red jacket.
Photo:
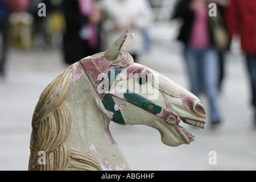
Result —
POLYGON ((246 63, 250 76, 252 104, 254 106, 255 118, 256 118, 256 54, 246 55, 246 63))

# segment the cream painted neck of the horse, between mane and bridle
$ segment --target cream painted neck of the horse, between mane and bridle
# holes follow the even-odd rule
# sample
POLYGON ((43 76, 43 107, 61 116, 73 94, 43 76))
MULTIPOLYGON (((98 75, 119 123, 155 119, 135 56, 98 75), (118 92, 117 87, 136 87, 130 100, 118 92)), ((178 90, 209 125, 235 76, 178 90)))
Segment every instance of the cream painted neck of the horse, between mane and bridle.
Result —
POLYGON ((72 117, 67 138, 69 146, 72 150, 94 156, 101 169, 129 169, 109 132, 109 118, 97 106, 97 93, 86 73, 81 71, 81 66, 77 65, 76 69, 77 75, 65 99, 72 117))

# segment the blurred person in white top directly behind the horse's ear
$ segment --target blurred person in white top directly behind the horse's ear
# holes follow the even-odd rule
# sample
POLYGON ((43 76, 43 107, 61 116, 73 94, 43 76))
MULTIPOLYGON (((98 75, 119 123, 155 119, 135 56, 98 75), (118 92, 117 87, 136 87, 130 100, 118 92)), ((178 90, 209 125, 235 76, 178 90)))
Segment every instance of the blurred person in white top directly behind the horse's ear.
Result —
POLYGON ((119 35, 127 29, 134 33, 133 41, 126 52, 137 61, 137 56, 145 50, 148 40, 147 26, 152 18, 150 4, 146 0, 102 0, 101 50, 105 51, 119 35))

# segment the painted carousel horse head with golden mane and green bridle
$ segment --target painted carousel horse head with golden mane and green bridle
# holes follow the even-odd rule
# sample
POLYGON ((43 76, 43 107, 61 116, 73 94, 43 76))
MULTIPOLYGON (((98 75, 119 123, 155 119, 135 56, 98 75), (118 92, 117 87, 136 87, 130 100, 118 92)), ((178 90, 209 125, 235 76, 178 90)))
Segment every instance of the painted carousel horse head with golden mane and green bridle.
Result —
POLYGON ((194 138, 180 121, 204 128, 199 98, 123 52, 133 38, 128 32, 43 90, 32 116, 29 170, 129 170, 111 121, 153 127, 173 147, 194 138))

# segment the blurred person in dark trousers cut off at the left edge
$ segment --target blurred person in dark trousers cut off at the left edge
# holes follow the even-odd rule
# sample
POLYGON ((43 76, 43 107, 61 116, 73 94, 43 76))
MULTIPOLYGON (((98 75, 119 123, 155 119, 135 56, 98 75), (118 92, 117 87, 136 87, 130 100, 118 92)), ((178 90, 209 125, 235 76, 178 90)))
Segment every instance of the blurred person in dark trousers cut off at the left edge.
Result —
POLYGON ((0 0, 0 76, 5 75, 5 62, 9 40, 9 16, 12 12, 24 11, 29 0, 0 0))

